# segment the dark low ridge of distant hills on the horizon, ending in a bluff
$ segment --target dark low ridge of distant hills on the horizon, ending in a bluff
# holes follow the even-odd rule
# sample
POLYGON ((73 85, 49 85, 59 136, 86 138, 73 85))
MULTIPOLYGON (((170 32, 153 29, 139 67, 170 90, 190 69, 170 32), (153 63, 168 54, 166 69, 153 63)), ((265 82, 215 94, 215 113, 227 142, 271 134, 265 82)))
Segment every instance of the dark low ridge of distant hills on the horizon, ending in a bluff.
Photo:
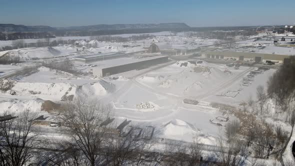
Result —
POLYGON ((44 31, 72 31, 72 30, 120 30, 120 29, 158 29, 158 28, 190 28, 185 23, 150 23, 150 24, 98 24, 88 26, 50 27, 26 26, 15 24, 0 24, 0 32, 44 32, 44 31))

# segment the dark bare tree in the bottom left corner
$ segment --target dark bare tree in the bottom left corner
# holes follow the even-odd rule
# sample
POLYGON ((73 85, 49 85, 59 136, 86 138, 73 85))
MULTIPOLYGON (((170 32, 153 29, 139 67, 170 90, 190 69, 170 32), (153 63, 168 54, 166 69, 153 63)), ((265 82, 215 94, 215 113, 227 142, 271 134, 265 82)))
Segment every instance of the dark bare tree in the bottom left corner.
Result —
MULTIPOLYGON (((12 114, 11 117, 13 116, 12 114)), ((34 156, 33 147, 37 134, 32 132, 32 120, 36 118, 36 114, 25 110, 14 117, 0 122, 0 165, 25 165, 34 156)))

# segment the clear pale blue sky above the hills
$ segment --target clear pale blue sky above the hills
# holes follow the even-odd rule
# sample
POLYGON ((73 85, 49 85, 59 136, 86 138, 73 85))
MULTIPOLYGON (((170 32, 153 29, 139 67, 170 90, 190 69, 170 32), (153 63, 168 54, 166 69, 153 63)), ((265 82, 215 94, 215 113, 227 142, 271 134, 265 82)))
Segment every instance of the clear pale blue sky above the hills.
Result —
POLYGON ((185 22, 295 24, 295 0, 0 0, 0 23, 73 26, 185 22))

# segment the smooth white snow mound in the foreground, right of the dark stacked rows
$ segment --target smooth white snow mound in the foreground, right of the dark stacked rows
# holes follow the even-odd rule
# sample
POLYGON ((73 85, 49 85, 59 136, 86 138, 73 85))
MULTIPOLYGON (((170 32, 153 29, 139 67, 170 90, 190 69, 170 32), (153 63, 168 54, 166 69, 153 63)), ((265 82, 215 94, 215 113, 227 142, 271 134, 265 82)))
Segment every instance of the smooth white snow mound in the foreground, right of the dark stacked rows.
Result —
POLYGON ((173 119, 162 127, 161 137, 191 140, 197 133, 196 128, 183 120, 173 119))

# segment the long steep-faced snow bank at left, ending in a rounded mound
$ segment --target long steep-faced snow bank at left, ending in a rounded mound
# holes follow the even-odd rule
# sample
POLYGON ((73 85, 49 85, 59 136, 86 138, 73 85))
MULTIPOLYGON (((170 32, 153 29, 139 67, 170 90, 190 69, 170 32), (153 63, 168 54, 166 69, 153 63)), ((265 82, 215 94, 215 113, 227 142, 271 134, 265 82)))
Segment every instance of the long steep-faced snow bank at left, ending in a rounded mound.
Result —
POLYGON ((10 87, 11 90, 4 93, 7 94, 13 91, 13 95, 36 96, 54 100, 71 100, 74 97, 97 97, 115 90, 114 84, 104 80, 98 80, 97 82, 86 83, 80 86, 70 83, 30 83, 16 81, 13 83, 14 86, 10 87))

